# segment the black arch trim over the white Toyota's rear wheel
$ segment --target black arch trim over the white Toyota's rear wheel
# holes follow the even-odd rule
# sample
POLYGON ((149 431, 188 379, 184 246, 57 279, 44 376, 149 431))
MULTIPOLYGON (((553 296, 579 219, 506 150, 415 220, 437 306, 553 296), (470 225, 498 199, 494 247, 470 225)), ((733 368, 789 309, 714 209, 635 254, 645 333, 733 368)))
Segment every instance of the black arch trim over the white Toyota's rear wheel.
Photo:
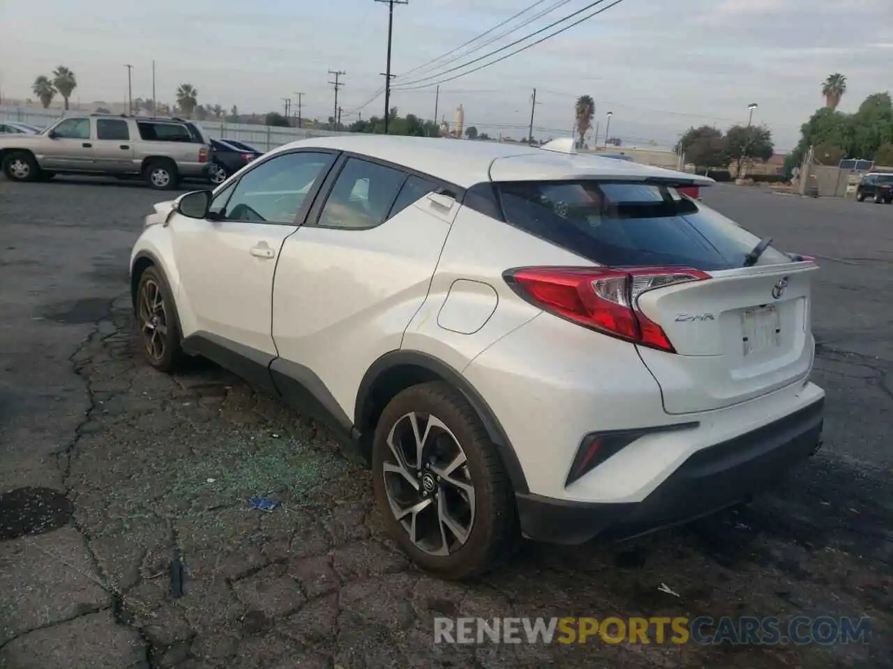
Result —
POLYGON ((527 477, 524 475, 524 470, 521 467, 521 461, 518 459, 512 442, 509 441, 493 409, 490 409, 487 401, 484 400, 480 392, 475 389, 468 379, 445 362, 427 353, 402 350, 390 351, 371 364, 365 376, 363 376, 363 381, 360 382, 359 390, 356 393, 354 423, 355 429, 360 434, 368 433, 373 429, 373 425, 371 425, 371 414, 373 411, 372 389, 375 387, 376 381, 388 369, 400 365, 414 365, 424 368, 440 376, 447 383, 452 384, 456 390, 462 392, 465 399, 472 405, 472 409, 480 417, 480 421, 487 430, 490 441, 497 445, 499 454, 502 456, 505 464, 505 471, 512 481, 514 492, 516 494, 530 492, 527 477))

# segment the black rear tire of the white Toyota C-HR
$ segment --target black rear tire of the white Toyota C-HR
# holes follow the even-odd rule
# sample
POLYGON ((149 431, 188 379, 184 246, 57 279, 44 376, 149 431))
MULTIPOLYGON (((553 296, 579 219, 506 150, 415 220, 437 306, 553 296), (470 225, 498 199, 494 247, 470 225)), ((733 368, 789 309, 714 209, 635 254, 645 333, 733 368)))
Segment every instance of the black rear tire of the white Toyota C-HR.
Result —
POLYGON ((482 574, 509 557, 519 543, 514 493, 497 447, 489 440, 471 404, 450 384, 414 385, 388 403, 372 442, 372 482, 388 533, 413 562, 442 578, 459 580, 482 574), (413 417, 417 434, 434 437, 423 444, 421 463, 412 452, 418 442, 413 436, 413 417), (440 425, 430 424, 431 417, 440 425), (392 442, 400 444, 397 453, 406 452, 410 457, 398 456, 391 450, 391 434, 395 435, 392 442), (401 445, 405 447, 407 437, 411 448, 404 451, 401 445), (460 461, 454 454, 463 454, 464 463, 450 470, 452 475, 444 476, 450 461, 460 461), (436 460, 427 469, 424 465, 430 457, 436 460), (398 462, 417 483, 414 487, 405 475, 394 470, 398 462), (388 465, 390 470, 386 470, 388 465), (427 506, 397 519, 395 508, 417 508, 424 500, 429 500, 427 506), (461 527, 464 541, 459 539, 459 533, 449 529, 450 525, 440 521, 441 504, 452 512, 449 517, 461 527), (415 541, 404 524, 405 521, 411 528, 411 519, 417 530, 415 541), (441 539, 444 536, 446 543, 441 539))

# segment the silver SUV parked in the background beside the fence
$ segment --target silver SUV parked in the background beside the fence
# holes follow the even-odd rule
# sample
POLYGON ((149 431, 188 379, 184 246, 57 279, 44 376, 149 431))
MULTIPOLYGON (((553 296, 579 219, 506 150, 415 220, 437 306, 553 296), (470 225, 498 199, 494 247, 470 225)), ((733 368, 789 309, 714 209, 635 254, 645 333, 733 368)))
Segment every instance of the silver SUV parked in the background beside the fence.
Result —
POLYGON ((158 190, 181 178, 208 178, 210 138, 188 120, 114 114, 71 115, 39 135, 0 137, 6 178, 40 181, 55 174, 143 178, 158 190))

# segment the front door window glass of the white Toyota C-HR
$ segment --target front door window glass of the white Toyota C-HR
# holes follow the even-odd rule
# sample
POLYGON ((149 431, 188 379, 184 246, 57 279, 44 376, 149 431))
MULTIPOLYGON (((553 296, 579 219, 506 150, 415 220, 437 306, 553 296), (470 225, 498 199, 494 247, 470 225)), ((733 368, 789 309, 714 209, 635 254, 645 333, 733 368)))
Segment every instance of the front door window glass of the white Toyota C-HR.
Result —
MULTIPOLYGON (((286 153, 263 162, 238 180, 219 216, 258 223, 294 223, 298 211, 332 162, 330 153, 286 153)), ((214 203, 225 194, 214 198, 214 203)), ((213 205, 212 205, 213 206, 213 205)))

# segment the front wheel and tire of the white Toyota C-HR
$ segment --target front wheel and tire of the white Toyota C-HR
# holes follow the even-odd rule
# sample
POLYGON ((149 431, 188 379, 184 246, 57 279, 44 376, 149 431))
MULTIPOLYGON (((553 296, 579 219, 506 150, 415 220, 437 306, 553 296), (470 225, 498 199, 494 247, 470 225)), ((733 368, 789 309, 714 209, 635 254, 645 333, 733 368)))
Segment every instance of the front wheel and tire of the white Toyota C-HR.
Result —
POLYGON ((162 273, 148 267, 137 287, 137 334, 148 363, 162 372, 176 371, 184 358, 177 308, 162 273))

